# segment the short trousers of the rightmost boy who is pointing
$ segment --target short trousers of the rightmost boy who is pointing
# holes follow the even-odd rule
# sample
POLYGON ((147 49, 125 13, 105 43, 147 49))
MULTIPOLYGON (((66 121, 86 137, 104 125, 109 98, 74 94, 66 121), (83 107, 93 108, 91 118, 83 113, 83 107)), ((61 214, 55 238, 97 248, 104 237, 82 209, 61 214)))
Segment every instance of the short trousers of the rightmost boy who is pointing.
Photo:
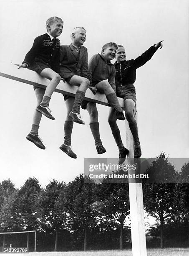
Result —
POLYGON ((131 99, 136 103, 136 90, 133 84, 123 85, 116 88, 116 95, 124 100, 131 99))

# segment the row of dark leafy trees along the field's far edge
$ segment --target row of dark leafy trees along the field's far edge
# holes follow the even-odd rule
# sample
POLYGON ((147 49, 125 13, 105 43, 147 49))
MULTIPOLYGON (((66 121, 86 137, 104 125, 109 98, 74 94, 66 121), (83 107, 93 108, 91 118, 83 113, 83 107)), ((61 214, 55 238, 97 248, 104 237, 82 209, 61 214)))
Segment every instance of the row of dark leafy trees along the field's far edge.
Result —
MULTIPOLYGON (((161 153, 148 167, 154 183, 143 184, 144 208, 156 218, 147 246, 189 246, 189 163, 181 172, 161 153), (156 183, 160 177, 164 182, 156 183), (170 181, 177 176, 177 183, 170 181), (168 182, 168 183, 167 183, 168 182), (178 236, 179 234, 179 236, 178 236)), ((37 230, 37 251, 71 251, 131 247, 129 185, 85 183, 83 174, 66 184, 35 177, 20 189, 0 182, 0 232, 37 230)), ((33 234, 0 235, 0 246, 34 248, 33 234)))

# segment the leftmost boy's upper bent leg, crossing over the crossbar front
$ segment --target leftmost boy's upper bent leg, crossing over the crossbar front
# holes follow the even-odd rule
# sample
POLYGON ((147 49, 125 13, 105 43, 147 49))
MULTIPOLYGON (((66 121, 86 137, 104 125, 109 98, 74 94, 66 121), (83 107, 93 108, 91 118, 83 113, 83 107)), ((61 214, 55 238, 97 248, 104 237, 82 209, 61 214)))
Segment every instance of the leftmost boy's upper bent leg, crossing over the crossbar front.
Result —
POLYGON ((55 88, 60 82, 60 75, 54 72, 50 68, 43 69, 40 73, 42 77, 50 78, 51 81, 47 85, 45 94, 43 96, 43 100, 40 102, 38 107, 36 108, 37 111, 45 115, 47 118, 50 118, 52 120, 55 120, 53 115, 51 114, 51 110, 49 109, 49 102, 50 102, 50 97, 53 94, 55 88))

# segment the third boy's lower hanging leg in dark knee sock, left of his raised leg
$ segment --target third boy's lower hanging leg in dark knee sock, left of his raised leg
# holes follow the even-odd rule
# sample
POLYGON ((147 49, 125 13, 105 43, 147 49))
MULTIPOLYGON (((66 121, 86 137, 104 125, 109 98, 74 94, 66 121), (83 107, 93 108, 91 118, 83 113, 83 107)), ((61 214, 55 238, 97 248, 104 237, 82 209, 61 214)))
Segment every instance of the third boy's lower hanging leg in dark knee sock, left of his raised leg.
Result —
POLYGON ((102 141, 100 138, 100 129, 98 123, 98 110, 96 108, 96 103, 88 102, 86 105, 86 109, 89 113, 90 121, 90 129, 93 134, 93 138, 95 141, 95 146, 98 154, 103 154, 106 152, 106 149, 102 146, 102 141))

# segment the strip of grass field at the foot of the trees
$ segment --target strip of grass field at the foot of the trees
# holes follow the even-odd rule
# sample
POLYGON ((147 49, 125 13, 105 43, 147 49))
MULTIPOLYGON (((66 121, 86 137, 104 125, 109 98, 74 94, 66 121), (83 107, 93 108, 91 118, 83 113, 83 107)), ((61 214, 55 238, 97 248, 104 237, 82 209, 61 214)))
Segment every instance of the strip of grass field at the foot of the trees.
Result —
MULTIPOLYGON (((11 255, 18 255, 12 254, 11 255)), ((27 255, 27 254, 26 254, 27 255)), ((70 251, 70 252, 36 252, 29 256, 132 256, 131 250, 111 251, 70 251)), ((147 249, 147 256, 189 256, 189 248, 147 249)))

